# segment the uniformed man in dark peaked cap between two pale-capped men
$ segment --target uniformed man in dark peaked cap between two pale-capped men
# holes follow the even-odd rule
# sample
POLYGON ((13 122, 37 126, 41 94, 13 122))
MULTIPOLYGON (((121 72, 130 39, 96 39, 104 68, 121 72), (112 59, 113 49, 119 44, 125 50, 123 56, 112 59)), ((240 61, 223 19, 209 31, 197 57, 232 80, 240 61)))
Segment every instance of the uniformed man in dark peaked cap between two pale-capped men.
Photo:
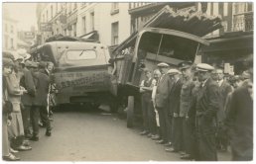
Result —
POLYGON ((192 80, 192 62, 184 61, 179 65, 183 73, 184 84, 181 91, 180 117, 182 119, 182 143, 184 145, 185 154, 181 159, 194 159, 194 119, 189 117, 190 105, 192 103, 192 90, 194 81, 192 80))

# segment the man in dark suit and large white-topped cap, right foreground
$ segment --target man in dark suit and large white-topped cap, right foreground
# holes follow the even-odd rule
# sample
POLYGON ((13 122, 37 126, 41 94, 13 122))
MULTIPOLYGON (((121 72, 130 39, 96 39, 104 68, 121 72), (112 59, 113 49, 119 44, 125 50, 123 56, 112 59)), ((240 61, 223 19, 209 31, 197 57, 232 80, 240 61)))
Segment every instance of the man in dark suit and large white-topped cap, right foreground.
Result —
POLYGON ((214 67, 199 63, 196 65, 200 86, 196 97, 196 130, 200 161, 216 161, 216 114, 219 110, 219 87, 210 77, 214 67))

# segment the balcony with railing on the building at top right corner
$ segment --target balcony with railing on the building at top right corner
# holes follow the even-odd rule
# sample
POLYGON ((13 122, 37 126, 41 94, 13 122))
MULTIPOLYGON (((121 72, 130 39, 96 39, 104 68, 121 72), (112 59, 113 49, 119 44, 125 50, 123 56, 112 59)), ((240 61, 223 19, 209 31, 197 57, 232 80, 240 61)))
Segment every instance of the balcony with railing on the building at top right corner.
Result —
POLYGON ((253 12, 235 14, 233 16, 233 32, 253 31, 253 12))

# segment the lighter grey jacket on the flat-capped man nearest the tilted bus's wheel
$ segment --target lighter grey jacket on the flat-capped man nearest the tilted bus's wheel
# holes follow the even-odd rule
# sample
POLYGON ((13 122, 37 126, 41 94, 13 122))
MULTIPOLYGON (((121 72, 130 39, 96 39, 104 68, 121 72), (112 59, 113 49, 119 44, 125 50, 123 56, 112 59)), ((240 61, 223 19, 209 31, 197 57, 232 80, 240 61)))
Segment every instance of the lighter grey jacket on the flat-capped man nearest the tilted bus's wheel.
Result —
POLYGON ((169 95, 172 85, 173 81, 168 74, 165 74, 163 78, 158 82, 155 97, 157 109, 168 107, 169 95))

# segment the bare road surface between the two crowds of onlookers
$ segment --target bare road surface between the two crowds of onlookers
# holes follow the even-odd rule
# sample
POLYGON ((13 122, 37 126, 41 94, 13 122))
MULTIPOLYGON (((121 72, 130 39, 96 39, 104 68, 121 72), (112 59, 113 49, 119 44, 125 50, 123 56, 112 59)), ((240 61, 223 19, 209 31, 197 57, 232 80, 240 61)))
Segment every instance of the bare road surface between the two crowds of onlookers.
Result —
MULTIPOLYGON (((31 141, 31 151, 18 152, 22 161, 183 161, 177 153, 127 128, 116 114, 69 109, 54 114, 52 136, 41 128, 40 140, 31 141)), ((218 153, 220 161, 230 152, 218 153)))

